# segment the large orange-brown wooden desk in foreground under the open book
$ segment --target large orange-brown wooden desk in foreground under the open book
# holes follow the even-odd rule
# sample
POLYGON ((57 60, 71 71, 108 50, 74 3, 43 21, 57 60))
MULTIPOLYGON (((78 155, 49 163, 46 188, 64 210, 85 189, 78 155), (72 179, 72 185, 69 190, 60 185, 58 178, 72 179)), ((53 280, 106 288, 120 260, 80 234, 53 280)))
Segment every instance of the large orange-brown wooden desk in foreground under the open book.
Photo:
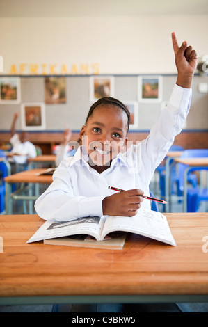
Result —
POLYGON ((208 301, 208 213, 166 217, 177 246, 129 234, 104 250, 26 244, 44 221, 1 216, 0 304, 208 301))

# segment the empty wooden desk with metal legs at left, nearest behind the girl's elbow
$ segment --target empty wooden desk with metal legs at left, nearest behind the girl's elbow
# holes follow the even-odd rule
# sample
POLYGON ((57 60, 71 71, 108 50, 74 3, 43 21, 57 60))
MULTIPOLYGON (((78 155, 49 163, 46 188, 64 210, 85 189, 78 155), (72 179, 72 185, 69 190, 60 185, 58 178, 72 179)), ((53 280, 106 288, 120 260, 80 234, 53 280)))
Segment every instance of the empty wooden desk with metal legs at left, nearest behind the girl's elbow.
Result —
MULTIPOLYGON (((13 183, 28 183, 28 184, 51 184, 52 176, 51 175, 37 175, 37 173, 41 173, 45 168, 41 169, 31 169, 25 170, 21 173, 13 174, 4 178, 6 182, 6 214, 12 214, 13 205, 12 205, 12 184, 13 183)), ((31 190, 30 190, 31 191, 31 190)), ((35 196, 31 193, 29 196, 16 196, 16 199, 19 200, 35 200, 38 198, 39 193, 36 188, 35 196)))

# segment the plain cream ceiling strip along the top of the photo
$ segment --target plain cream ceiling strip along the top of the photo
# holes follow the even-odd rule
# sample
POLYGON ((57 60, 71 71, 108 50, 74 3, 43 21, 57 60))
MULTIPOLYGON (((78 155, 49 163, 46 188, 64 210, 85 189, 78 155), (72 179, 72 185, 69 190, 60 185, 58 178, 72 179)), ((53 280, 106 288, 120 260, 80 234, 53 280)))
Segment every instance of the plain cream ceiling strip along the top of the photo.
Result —
POLYGON ((208 0, 0 0, 0 17, 140 15, 208 15, 208 0))

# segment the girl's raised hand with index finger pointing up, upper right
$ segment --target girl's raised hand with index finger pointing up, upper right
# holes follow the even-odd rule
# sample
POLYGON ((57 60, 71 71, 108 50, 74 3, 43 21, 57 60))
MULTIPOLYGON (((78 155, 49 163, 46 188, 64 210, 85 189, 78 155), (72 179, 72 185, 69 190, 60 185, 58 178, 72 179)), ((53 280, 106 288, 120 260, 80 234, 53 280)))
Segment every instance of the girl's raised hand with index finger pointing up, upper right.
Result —
POLYGON ((197 54, 191 45, 184 41, 179 47, 175 33, 172 33, 175 64, 178 71, 177 84, 183 88, 191 88, 193 74, 197 65, 197 54))

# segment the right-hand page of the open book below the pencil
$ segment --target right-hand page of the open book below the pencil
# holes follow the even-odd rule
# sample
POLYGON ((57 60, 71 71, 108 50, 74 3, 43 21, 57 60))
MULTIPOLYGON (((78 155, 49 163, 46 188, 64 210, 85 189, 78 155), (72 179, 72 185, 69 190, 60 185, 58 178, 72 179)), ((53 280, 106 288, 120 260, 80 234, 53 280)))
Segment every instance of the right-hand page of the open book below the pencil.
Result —
POLYGON ((106 218, 102 237, 109 232, 120 230, 141 234, 152 239, 176 245, 166 219, 161 212, 139 209, 136 216, 109 216, 106 218))

